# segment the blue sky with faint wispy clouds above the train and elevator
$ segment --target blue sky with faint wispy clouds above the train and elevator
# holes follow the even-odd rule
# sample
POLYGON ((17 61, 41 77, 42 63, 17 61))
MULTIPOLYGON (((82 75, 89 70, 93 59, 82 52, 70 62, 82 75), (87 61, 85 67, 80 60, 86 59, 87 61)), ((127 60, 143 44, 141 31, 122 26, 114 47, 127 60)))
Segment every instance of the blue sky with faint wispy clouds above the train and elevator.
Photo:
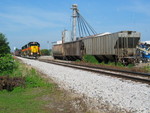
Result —
POLYGON ((12 51, 31 41, 51 48, 71 30, 72 4, 97 33, 131 30, 150 40, 150 0, 0 0, 0 32, 12 51))

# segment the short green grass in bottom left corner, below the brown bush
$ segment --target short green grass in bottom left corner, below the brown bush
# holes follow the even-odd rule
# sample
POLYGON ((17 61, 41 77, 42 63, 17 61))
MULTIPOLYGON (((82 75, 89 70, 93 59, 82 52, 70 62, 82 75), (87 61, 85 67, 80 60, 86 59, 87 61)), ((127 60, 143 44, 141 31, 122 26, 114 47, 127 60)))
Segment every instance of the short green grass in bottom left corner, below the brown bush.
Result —
POLYGON ((43 113, 43 105, 48 101, 39 99, 51 91, 44 88, 18 89, 0 92, 0 113, 43 113), (18 91, 19 90, 19 91, 18 91))

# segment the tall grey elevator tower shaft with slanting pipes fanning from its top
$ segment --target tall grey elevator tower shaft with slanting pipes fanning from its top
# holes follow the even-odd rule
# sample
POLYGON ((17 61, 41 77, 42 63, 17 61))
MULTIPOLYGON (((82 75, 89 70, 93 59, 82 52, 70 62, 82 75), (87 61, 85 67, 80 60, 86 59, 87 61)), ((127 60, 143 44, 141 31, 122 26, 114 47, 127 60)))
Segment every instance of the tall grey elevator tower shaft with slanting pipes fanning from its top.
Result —
POLYGON ((72 10, 73 10, 73 14, 72 14, 72 17, 73 17, 73 22, 72 22, 72 40, 73 41, 76 41, 76 20, 77 20, 77 11, 78 11, 78 8, 77 8, 77 4, 73 4, 72 5, 72 10))

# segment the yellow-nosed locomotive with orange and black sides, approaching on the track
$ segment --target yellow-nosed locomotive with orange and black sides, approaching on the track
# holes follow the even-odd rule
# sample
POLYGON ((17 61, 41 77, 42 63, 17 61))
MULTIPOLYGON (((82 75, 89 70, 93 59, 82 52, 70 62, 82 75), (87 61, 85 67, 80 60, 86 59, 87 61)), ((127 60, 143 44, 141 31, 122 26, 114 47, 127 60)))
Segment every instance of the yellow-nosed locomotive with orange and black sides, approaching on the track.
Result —
POLYGON ((37 58, 40 56, 40 44, 38 42, 29 42, 21 48, 22 57, 37 58))

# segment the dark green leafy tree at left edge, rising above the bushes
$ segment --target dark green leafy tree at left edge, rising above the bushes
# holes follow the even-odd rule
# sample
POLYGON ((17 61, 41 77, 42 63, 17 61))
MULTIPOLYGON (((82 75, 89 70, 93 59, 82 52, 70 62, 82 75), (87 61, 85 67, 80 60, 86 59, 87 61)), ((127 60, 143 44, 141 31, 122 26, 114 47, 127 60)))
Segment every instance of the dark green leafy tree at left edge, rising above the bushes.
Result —
POLYGON ((8 54, 10 53, 9 42, 7 42, 7 38, 4 34, 0 33, 0 54, 8 54))

